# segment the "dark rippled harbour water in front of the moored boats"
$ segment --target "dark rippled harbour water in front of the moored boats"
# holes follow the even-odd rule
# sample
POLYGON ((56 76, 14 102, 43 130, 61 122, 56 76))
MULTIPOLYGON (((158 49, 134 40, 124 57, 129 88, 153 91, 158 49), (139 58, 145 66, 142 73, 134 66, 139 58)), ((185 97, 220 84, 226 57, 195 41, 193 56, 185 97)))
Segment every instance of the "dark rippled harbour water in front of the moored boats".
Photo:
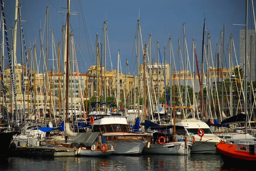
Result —
POLYGON ((218 155, 9 158, 1 171, 247 171, 225 166, 218 155))

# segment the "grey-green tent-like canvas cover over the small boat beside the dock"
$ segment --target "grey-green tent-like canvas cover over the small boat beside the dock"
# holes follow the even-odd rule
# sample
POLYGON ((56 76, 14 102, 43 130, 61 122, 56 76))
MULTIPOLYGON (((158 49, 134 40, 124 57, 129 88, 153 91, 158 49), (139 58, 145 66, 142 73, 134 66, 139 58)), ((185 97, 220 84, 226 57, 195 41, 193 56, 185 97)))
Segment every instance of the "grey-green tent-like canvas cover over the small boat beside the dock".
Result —
MULTIPOLYGON (((77 133, 70 142, 83 144, 85 146, 92 146, 93 142, 98 139, 99 132, 77 133)), ((103 142, 103 141, 102 141, 103 142)))

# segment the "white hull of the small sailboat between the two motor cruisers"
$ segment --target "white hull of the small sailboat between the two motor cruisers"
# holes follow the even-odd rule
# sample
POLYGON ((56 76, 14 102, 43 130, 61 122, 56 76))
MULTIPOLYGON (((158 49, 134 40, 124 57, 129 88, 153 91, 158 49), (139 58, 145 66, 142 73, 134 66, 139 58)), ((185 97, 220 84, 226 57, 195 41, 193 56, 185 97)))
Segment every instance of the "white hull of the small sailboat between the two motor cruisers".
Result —
POLYGON ((151 144, 149 148, 145 146, 143 152, 150 154, 189 155, 192 143, 187 143, 188 148, 186 148, 185 142, 169 142, 163 145, 151 144))

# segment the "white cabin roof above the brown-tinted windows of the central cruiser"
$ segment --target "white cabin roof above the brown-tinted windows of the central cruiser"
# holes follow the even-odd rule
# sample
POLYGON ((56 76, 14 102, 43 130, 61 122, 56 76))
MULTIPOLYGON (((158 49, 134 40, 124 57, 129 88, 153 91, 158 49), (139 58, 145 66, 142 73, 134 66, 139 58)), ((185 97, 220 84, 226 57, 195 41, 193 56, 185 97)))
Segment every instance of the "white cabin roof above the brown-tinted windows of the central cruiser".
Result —
POLYGON ((108 124, 123 124, 128 125, 127 119, 123 116, 104 116, 95 119, 92 125, 108 125, 108 124))

